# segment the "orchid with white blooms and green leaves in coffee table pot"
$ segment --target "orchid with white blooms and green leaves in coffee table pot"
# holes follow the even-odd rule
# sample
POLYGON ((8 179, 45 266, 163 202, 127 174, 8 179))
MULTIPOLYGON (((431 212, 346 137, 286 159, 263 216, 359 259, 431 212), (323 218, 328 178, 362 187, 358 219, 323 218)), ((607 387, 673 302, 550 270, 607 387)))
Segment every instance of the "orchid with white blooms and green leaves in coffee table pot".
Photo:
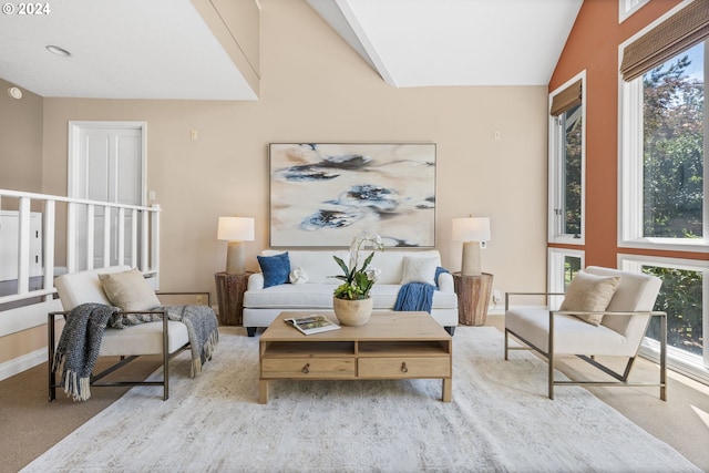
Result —
POLYGON ((384 250, 384 244, 381 241, 379 235, 364 234, 352 239, 349 265, 346 265, 342 258, 333 256, 343 271, 343 275, 335 277, 345 281, 335 289, 335 297, 338 299, 367 299, 372 286, 379 279, 381 271, 378 268, 369 266, 374 257, 374 251, 364 259, 361 267, 358 267, 359 253, 362 248, 367 247, 367 245, 371 245, 376 250, 384 250))

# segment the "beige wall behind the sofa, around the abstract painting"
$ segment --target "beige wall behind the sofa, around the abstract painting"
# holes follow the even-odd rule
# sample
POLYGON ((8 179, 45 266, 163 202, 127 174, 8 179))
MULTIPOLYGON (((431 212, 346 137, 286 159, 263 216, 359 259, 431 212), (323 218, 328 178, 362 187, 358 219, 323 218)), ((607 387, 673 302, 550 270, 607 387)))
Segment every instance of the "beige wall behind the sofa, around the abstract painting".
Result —
POLYGON ((45 99, 43 192, 66 193, 69 121, 146 121, 148 189, 163 208, 162 289, 214 294, 226 260, 218 216, 256 218, 249 269, 268 245, 268 143, 433 142, 444 266, 460 269, 451 219, 490 216, 483 270, 495 289, 546 287, 546 86, 393 89, 305 1, 261 6, 259 101, 45 99))

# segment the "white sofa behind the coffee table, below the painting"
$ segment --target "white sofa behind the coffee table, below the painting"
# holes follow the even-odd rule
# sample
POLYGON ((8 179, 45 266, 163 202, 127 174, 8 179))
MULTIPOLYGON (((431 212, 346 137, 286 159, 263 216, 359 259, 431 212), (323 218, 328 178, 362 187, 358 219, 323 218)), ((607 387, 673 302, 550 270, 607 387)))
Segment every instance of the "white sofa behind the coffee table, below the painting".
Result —
MULTIPOLYGON (((264 250, 261 255, 275 256, 282 253, 284 250, 269 249, 264 250)), ((362 250, 362 260, 369 253, 362 250)), ((288 250, 291 271, 300 268, 301 273, 307 275, 307 281, 301 284, 280 284, 264 288, 263 273, 250 275, 244 294, 244 327, 247 328, 248 336, 253 337, 258 327, 268 327, 285 310, 332 310, 332 291, 341 284, 341 280, 333 276, 342 274, 342 269, 332 257, 335 255, 346 264, 349 261, 349 250, 288 250)), ((381 275, 371 290, 373 317, 377 311, 393 310, 401 288, 404 257, 436 258, 438 266, 441 266, 441 255, 438 250, 376 251, 370 267, 380 269, 381 275)), ((433 294, 431 316, 452 335, 458 325, 458 296, 453 287, 453 277, 442 273, 438 284, 439 287, 433 294)))

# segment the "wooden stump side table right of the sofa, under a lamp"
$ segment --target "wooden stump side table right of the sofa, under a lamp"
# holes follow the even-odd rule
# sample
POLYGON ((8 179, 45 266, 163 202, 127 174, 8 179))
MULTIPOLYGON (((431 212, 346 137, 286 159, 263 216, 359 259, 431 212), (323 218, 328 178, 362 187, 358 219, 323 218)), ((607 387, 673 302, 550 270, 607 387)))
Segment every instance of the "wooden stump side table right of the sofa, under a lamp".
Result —
POLYGON ((493 276, 483 273, 480 276, 463 276, 453 273, 455 294, 458 294, 458 321, 464 326, 482 326, 487 318, 487 306, 492 294, 493 276))

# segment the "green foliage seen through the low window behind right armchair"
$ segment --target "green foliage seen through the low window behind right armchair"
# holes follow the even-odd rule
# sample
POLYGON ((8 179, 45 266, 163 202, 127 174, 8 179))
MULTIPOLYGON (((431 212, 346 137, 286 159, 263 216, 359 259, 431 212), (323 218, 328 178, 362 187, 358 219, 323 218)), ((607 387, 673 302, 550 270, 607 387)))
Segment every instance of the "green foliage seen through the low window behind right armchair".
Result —
MULTIPOLYGON (((662 280, 655 310, 667 312, 667 343, 692 353, 702 352, 702 274, 648 266, 644 273, 662 280)), ((659 339, 659 319, 654 318, 647 336, 659 339)))

